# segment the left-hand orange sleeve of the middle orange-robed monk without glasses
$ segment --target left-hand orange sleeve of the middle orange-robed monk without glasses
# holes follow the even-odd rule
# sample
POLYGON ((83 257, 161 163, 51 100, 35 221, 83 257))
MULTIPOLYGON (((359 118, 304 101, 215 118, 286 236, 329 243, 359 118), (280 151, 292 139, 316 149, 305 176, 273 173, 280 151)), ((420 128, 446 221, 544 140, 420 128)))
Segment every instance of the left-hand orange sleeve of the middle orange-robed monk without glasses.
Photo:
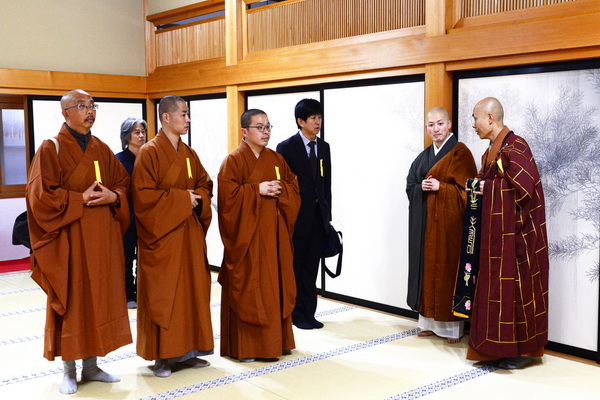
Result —
MULTIPOLYGON (((143 147, 132 176, 133 203, 140 237, 152 245, 180 226, 193 212, 190 193, 177 187, 160 187, 160 154, 143 147)), ((164 172, 163 172, 164 174, 164 172)))

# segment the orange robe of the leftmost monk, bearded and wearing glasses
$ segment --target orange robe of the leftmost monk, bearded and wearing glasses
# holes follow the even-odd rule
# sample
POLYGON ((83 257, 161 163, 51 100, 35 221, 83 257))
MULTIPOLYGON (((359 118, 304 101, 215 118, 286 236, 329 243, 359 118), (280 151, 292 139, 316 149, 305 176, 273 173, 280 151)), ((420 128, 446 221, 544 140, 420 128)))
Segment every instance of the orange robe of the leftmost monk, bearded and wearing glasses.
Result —
POLYGON ((32 278, 48 295, 44 357, 104 356, 131 343, 123 291, 122 234, 129 224, 129 175, 109 147, 91 137, 85 153, 63 125, 55 144, 38 149, 27 183, 32 278), (87 207, 96 180, 119 195, 120 207, 87 207))

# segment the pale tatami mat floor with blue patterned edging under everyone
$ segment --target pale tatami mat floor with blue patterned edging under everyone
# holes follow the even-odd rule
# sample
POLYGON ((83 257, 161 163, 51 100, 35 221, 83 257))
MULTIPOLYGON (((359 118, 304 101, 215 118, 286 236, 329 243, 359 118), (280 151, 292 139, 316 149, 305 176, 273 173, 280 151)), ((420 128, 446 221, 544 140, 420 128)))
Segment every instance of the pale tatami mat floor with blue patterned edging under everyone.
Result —
MULTIPOLYGON (((214 277, 216 279, 216 276, 214 277)), ((544 356, 518 371, 465 360, 466 338, 416 336, 416 322, 319 299, 320 330, 294 328, 296 350, 278 362, 242 364, 219 353, 220 286, 213 281, 211 366, 154 377, 134 344, 100 358, 115 384, 58 392, 62 362, 42 357, 45 294, 27 273, 0 275, 0 399, 598 399, 600 368, 544 356)), ((130 310, 135 338, 136 311, 130 310)))

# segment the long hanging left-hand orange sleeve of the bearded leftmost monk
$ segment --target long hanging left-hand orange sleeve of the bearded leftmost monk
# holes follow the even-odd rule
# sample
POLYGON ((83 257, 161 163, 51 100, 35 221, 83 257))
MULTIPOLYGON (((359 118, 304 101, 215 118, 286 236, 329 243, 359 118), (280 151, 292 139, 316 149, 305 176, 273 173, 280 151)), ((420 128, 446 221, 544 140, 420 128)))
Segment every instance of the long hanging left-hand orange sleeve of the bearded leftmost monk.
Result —
POLYGON ((61 174, 54 143, 44 141, 31 163, 26 187, 35 260, 31 277, 59 315, 67 308, 69 278, 70 245, 64 228, 83 216, 83 195, 62 188, 61 174))

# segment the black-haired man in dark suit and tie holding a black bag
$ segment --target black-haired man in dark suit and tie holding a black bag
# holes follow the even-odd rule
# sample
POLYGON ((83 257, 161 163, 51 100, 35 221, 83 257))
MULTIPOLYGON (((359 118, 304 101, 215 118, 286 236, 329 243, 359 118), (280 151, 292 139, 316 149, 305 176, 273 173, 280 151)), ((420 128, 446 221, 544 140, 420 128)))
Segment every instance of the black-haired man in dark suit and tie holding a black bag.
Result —
POLYGON ((314 99, 303 99, 294 110, 298 133, 277 145, 280 153, 298 177, 301 205, 294 227, 294 273, 296 306, 293 324, 300 329, 319 329, 317 274, 321 247, 331 221, 331 154, 329 144, 317 137, 321 131, 323 109, 314 99))

